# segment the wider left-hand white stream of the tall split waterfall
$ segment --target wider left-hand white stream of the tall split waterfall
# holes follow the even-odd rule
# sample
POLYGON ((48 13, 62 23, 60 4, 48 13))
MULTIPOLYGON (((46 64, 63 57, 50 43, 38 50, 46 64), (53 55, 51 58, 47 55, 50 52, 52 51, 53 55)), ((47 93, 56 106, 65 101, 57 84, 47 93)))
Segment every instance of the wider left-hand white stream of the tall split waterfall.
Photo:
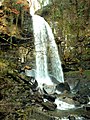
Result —
POLYGON ((44 19, 38 15, 32 16, 36 51, 36 80, 38 83, 52 84, 47 66, 47 34, 44 19))

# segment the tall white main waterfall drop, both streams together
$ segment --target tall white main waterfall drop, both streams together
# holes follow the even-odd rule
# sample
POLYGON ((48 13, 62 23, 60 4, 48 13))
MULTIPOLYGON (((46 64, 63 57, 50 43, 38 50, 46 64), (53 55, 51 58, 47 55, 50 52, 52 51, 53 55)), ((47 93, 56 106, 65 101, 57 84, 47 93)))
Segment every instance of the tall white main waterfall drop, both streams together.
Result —
POLYGON ((57 45, 49 24, 44 18, 38 15, 33 15, 32 21, 36 51, 36 80, 40 84, 53 84, 48 71, 49 58, 52 75, 54 75, 59 82, 64 82, 57 45))

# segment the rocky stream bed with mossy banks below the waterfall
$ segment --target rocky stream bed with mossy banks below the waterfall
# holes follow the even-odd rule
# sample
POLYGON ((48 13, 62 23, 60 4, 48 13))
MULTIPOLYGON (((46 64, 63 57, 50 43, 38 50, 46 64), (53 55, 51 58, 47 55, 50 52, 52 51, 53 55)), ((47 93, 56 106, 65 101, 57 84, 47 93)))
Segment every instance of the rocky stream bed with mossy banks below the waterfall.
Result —
POLYGON ((40 91, 35 78, 21 74, 21 66, 0 59, 0 120, 90 119, 89 70, 64 72, 65 83, 57 85, 61 94, 50 94, 46 88, 40 91), (64 102, 68 107, 63 108, 64 102))

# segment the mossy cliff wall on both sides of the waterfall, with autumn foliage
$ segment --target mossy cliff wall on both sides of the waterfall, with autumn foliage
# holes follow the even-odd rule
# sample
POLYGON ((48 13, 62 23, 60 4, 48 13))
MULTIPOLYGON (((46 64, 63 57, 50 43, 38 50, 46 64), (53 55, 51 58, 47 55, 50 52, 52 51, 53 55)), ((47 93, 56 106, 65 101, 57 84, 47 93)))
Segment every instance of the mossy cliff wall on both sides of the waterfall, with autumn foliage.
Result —
MULTIPOLYGON (((90 69, 89 2, 83 5, 83 0, 56 0, 36 12, 47 20, 53 30, 65 71, 90 69)), ((23 46, 34 49, 32 20, 26 1, 3 2, 0 24, 1 49, 18 47, 23 43, 23 46)))

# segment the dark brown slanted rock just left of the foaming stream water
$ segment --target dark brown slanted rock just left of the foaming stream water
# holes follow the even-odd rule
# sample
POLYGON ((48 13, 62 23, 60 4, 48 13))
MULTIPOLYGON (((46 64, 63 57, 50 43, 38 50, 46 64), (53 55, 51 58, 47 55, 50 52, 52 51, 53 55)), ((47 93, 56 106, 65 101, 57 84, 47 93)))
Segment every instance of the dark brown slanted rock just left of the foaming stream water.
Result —
POLYGON ((57 108, 57 105, 53 102, 46 101, 42 103, 43 109, 54 111, 57 108))

